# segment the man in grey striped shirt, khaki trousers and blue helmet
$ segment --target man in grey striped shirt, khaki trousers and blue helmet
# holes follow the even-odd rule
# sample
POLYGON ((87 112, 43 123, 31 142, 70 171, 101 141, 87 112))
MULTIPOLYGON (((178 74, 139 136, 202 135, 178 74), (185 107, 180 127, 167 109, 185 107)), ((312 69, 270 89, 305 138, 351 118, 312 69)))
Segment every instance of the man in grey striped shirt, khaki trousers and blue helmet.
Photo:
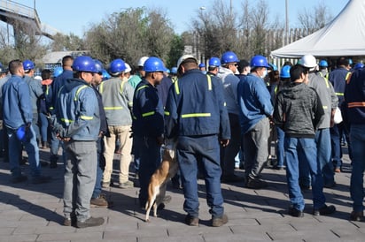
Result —
POLYGON ((133 182, 129 180, 129 164, 132 156, 132 139, 130 129, 132 126, 132 103, 134 89, 124 77, 126 65, 122 59, 115 59, 111 62, 109 73, 112 79, 103 81, 99 92, 103 97, 104 110, 110 136, 105 136, 105 170, 103 177, 103 187, 108 188, 112 181, 113 157, 115 141, 120 140, 120 173, 119 187, 133 187, 133 182))

